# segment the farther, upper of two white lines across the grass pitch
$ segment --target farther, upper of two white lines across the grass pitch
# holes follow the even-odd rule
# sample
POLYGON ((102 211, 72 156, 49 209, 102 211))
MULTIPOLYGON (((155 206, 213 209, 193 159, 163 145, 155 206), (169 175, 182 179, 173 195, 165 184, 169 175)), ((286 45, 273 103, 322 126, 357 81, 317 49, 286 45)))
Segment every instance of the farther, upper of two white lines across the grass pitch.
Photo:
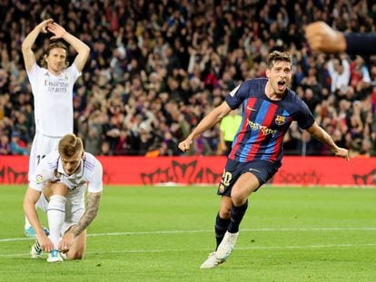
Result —
MULTIPOLYGON (((376 227, 365 228, 280 228, 280 229, 241 229, 242 232, 281 232, 281 231, 376 231, 376 227)), ((88 234, 88 237, 104 237, 104 236, 134 236, 134 235, 160 235, 160 234, 182 234, 182 233, 207 233, 213 230, 159 230, 159 231, 140 231, 140 232, 110 232, 88 234)), ((1 242, 25 241, 35 238, 2 238, 1 242)))

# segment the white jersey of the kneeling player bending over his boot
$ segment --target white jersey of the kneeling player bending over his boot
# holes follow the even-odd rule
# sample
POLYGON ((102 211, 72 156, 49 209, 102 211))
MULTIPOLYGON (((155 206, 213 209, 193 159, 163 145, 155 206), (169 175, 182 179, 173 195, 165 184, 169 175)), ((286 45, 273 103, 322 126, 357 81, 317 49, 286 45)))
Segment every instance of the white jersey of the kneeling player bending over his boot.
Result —
POLYGON ((74 174, 67 175, 64 171, 60 155, 52 151, 41 160, 34 176, 29 182, 29 187, 41 191, 47 182, 64 183, 68 189, 67 200, 84 202, 84 192, 101 192, 103 190, 102 165, 91 153, 84 152, 80 167, 74 174))

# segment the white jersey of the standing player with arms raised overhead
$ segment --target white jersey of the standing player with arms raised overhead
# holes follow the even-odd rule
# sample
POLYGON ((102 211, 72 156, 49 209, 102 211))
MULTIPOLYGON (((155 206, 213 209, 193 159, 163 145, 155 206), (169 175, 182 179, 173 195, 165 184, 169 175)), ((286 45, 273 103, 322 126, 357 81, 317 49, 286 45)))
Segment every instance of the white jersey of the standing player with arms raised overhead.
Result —
POLYGON ((35 103, 35 130, 62 137, 73 132, 73 88, 81 73, 73 63, 58 76, 36 63, 27 72, 35 103))

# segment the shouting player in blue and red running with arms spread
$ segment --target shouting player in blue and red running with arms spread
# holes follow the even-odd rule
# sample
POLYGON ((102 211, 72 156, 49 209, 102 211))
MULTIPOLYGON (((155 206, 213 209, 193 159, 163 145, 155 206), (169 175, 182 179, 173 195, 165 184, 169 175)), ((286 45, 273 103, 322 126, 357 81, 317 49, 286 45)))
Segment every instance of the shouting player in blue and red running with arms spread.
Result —
POLYGON ((349 160, 348 151, 334 143, 314 121, 308 106, 288 88, 292 79, 291 54, 274 51, 269 54, 267 66, 267 78, 251 79, 233 89, 179 144, 182 151, 189 151, 193 139, 242 105, 242 123, 218 187, 222 201, 215 219, 217 248, 201 268, 217 267, 230 257, 248 197, 280 168, 283 136, 293 121, 326 144, 336 156, 349 160))

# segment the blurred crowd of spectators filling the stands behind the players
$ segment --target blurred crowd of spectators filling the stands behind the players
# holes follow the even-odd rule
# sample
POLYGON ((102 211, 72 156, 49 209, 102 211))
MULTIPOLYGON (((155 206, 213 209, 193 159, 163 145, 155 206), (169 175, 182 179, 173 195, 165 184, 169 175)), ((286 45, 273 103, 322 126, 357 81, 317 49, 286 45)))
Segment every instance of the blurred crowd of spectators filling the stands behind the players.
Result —
MULTIPOLYGON (((264 76, 275 49, 292 53, 292 89, 334 141, 351 156, 376 155, 376 55, 312 53, 304 39, 316 20, 376 32, 376 4, 350 0, 0 0, 0 154, 29 153, 33 96, 21 44, 48 17, 91 48, 74 88, 74 131, 94 155, 183 154, 178 141, 236 85, 264 76)), ((191 153, 222 154, 219 128, 191 153)), ((330 153, 297 124, 284 151, 330 153)))

